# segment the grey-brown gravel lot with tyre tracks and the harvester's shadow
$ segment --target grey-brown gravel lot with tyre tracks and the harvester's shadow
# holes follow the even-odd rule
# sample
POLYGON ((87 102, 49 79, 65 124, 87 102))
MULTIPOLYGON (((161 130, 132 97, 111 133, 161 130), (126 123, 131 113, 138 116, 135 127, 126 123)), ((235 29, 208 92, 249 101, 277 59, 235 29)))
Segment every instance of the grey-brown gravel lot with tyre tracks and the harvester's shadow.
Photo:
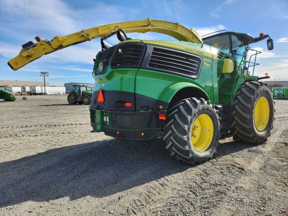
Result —
POLYGON ((200 165, 90 133, 88 106, 66 103, 0 101, 0 215, 288 215, 288 100, 266 143, 226 138, 200 165))

